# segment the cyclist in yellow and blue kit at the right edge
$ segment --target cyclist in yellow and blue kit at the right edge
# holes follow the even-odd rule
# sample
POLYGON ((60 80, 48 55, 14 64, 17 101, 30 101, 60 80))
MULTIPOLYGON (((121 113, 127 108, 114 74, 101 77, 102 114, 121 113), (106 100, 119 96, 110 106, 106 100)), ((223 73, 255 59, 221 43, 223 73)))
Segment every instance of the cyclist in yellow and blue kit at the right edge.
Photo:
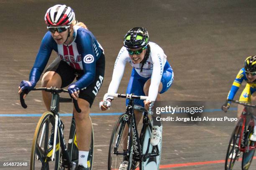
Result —
MULTIPOLYGON (((243 80, 245 80, 247 84, 240 95, 239 101, 249 102, 253 105, 256 105, 256 93, 254 93, 256 91, 256 55, 249 56, 244 61, 244 66, 238 72, 236 79, 234 80, 233 85, 228 93, 227 100, 233 100, 243 80)), ((222 106, 222 110, 226 112, 229 107, 230 102, 227 101, 222 106)), ((243 108, 243 105, 238 105, 237 117, 240 117, 243 108)), ((251 135, 250 140, 256 141, 256 114, 254 114, 253 117, 254 133, 251 135)))

